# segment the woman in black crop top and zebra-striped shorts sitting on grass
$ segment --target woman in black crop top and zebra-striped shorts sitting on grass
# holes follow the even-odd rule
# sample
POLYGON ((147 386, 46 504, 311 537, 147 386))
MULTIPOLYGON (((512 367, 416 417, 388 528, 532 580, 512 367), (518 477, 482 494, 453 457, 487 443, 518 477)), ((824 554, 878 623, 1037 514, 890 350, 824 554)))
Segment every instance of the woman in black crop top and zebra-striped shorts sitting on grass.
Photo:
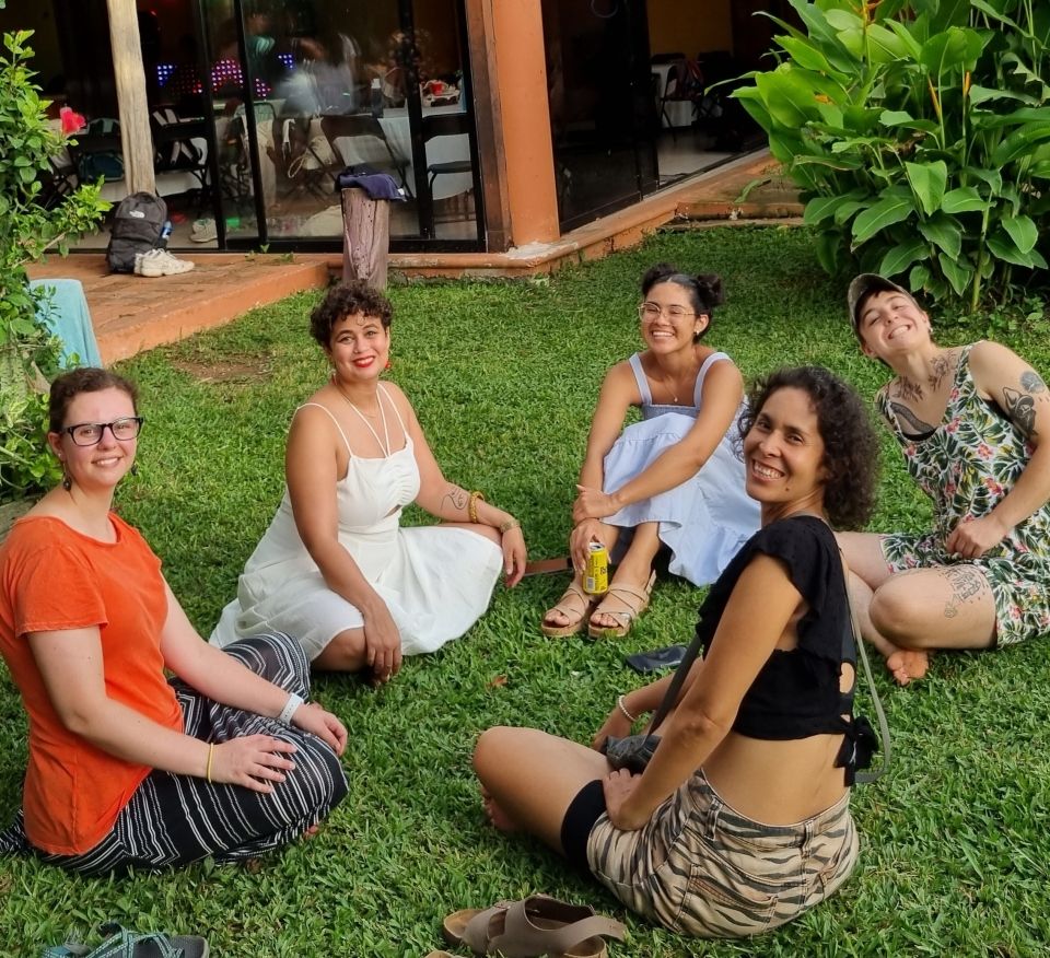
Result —
POLYGON ((645 771, 611 771, 596 749, 654 711, 669 677, 621 696, 594 748, 503 727, 475 751, 493 825, 537 834, 632 910, 703 937, 790 921, 845 880, 858 850, 849 786, 866 743, 828 523, 866 521, 876 442, 858 396, 819 367, 774 373, 748 408, 762 527, 711 587, 704 656, 645 771))

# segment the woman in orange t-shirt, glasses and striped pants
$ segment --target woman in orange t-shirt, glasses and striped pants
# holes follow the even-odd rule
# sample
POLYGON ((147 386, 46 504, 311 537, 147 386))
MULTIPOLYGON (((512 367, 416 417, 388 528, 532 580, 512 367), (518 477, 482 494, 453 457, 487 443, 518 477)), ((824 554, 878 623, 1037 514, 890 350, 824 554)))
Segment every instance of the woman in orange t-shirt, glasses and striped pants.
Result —
POLYGON ((305 703, 299 643, 208 645, 110 511, 141 425, 126 379, 59 376, 48 443, 62 483, 0 546, 0 653, 30 718, 23 809, 0 852, 83 873, 258 855, 347 791, 347 732, 305 703))

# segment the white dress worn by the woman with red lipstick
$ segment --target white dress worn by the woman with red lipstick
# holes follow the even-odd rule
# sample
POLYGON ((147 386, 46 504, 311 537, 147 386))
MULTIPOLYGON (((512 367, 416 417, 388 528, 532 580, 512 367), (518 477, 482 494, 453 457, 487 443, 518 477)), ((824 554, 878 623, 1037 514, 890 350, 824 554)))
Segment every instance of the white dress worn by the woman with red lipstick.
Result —
MULTIPOLYGON (((412 440, 382 385, 380 395, 405 435, 405 447, 382 458, 353 455, 331 412, 305 405, 325 409, 350 456, 347 475, 336 483, 339 542, 386 603, 401 635, 401 652, 416 655, 458 639, 477 621, 488 608, 503 556, 493 541, 467 529, 400 527, 401 509, 419 493, 419 468, 412 440)), ((383 405, 381 399, 381 411, 383 405)), ((385 431, 385 412, 383 427, 385 431)), ((389 442, 384 448, 389 449, 389 442)), ((273 521, 244 566, 237 598, 223 609, 211 634, 212 645, 287 632, 314 659, 336 635, 362 623, 361 612, 328 588, 306 551, 285 488, 273 521)))

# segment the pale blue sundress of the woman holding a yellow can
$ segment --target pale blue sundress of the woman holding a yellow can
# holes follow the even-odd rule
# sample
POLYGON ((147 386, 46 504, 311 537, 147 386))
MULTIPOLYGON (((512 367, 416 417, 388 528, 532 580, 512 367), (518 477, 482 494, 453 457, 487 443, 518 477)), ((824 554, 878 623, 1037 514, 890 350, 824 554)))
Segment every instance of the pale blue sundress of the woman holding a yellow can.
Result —
MULTIPOLYGON (((700 413, 703 381, 716 362, 730 362, 724 352, 712 353, 697 374, 692 406, 657 405, 642 360, 629 360, 642 397, 642 421, 620 433, 605 457, 603 490, 615 492, 668 448, 681 442, 700 413)), ((744 489, 744 462, 738 452, 736 421, 730 425, 703 467, 680 486, 651 499, 632 502, 603 522, 626 529, 642 523, 658 523, 660 540, 670 549, 668 570, 693 585, 708 585, 719 577, 730 560, 759 527, 758 503, 744 489)), ((620 536, 612 558, 627 549, 629 536, 620 536)))

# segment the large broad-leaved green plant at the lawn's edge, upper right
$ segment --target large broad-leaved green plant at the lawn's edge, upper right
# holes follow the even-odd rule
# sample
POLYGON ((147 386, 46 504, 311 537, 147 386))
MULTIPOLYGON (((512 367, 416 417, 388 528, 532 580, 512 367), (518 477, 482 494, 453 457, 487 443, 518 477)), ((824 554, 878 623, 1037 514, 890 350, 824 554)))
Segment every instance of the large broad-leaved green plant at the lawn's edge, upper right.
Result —
MULTIPOLYGON (((821 266, 1001 301, 1050 254, 1050 5, 790 0, 736 96, 803 189, 821 266)), ((1038 276, 1043 279, 1045 276, 1038 276)))

